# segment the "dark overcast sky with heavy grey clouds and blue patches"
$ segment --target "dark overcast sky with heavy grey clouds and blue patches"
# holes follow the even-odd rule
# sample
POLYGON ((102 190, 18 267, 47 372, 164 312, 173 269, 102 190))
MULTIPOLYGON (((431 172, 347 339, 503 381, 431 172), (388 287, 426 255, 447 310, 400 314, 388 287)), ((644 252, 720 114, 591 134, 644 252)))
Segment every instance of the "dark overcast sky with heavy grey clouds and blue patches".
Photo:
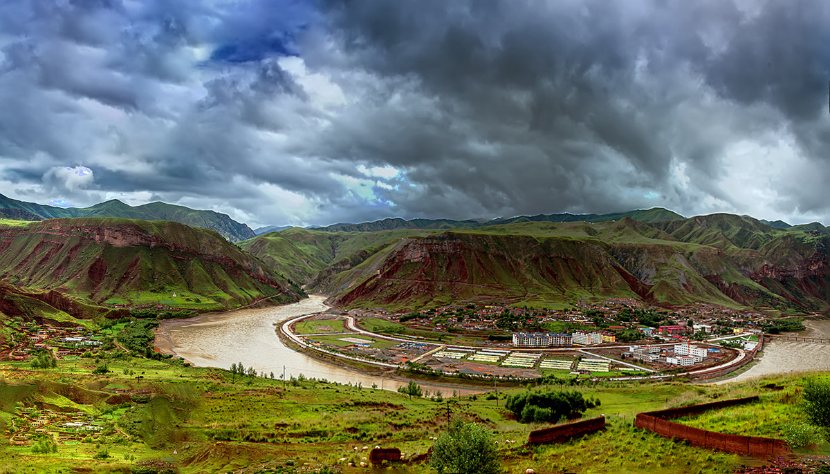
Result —
POLYGON ((0 193, 830 224, 830 2, 0 0, 0 193))

